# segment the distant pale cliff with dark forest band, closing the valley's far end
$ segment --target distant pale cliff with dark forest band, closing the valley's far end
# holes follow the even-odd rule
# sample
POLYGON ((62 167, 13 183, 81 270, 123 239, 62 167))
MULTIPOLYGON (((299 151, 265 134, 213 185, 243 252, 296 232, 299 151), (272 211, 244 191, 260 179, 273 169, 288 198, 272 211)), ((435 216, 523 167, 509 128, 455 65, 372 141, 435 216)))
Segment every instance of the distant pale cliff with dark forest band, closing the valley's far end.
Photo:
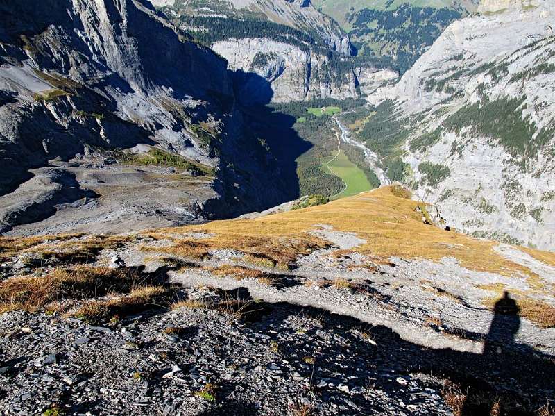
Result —
POLYGON ((309 1, 170 1, 157 3, 177 26, 209 45, 237 71, 254 101, 359 97, 393 71, 350 57, 348 36, 309 1), (256 76, 245 75, 245 73, 256 76))

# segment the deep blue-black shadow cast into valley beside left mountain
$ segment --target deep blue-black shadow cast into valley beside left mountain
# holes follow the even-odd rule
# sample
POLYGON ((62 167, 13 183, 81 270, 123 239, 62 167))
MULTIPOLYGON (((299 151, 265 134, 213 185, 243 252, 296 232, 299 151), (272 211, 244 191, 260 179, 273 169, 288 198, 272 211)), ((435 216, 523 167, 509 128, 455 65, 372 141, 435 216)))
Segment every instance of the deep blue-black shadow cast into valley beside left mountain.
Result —
POLYGON ((217 219, 262 211, 298 198, 296 159, 311 147, 293 129, 295 117, 271 107, 271 83, 243 71, 230 72, 230 76, 234 81, 235 131, 221 143, 219 191, 223 201, 213 199, 204 206, 209 217, 217 219))

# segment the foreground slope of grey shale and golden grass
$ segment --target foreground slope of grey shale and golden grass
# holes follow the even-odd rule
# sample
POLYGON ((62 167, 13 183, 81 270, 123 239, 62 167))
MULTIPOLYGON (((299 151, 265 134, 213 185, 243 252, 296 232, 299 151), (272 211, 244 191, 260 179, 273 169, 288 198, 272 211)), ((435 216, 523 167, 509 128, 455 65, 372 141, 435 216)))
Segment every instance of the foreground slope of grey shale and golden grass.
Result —
POLYGON ((409 196, 0 238, 0 412, 549 414, 555 253, 409 196))

